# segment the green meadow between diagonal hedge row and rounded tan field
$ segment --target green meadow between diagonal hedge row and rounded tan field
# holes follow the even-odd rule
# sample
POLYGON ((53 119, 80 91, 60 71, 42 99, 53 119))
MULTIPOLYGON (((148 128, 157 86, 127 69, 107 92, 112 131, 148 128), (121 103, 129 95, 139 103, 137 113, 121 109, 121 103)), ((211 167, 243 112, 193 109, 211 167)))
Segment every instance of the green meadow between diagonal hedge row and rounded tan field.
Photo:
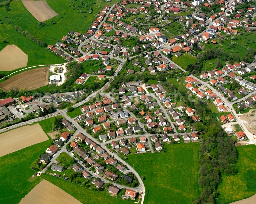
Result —
MULTIPOLYGON (((12 1, 11 5, 15 3, 21 3, 21 1, 12 1)), ((64 62, 61 58, 52 54, 44 47, 33 43, 32 41, 28 40, 27 37, 16 31, 14 29, 15 24, 13 25, 12 23, 8 23, 7 21, 10 22, 10 19, 5 18, 5 16, 8 16, 5 7, 0 7, 0 19, 3 22, 3 24, 0 26, 0 50, 2 50, 7 44, 15 44, 28 55, 28 67, 45 64, 60 64, 64 62), (4 38, 8 41, 8 43, 3 43, 4 38)), ((5 73, 8 74, 11 72, 5 73)))

